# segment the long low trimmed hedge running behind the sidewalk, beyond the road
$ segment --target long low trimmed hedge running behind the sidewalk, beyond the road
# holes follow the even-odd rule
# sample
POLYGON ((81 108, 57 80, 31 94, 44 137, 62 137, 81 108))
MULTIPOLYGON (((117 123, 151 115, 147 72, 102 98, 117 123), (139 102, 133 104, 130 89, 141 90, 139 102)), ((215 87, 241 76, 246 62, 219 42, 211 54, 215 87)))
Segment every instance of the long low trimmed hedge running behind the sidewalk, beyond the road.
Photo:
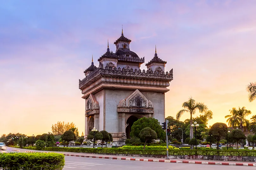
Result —
MULTIPOLYGON (((26 147, 27 149, 27 147, 26 147)), ((31 149, 36 150, 35 147, 31 149)), ((67 148, 67 147, 50 147, 44 148, 45 151, 61 151, 76 153, 96 153, 96 154, 141 154, 141 155, 165 155, 166 149, 120 149, 120 148, 67 148)), ((256 156, 256 150, 182 150, 169 149, 169 155, 221 155, 221 156, 256 156)))

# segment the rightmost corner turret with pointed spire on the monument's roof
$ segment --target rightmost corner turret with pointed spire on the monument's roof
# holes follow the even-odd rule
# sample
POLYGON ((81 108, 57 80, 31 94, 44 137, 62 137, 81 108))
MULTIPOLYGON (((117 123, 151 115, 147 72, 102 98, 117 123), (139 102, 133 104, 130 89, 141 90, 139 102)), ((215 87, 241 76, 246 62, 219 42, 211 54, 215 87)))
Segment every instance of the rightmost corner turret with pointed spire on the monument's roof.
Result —
POLYGON ((150 60, 150 62, 148 62, 147 64, 145 64, 148 68, 149 71, 159 71, 159 72, 164 72, 164 67, 165 67, 165 64, 167 62, 166 61, 163 61, 162 59, 160 59, 158 56, 157 56, 157 45, 156 45, 156 49, 155 49, 155 56, 152 60, 150 60))

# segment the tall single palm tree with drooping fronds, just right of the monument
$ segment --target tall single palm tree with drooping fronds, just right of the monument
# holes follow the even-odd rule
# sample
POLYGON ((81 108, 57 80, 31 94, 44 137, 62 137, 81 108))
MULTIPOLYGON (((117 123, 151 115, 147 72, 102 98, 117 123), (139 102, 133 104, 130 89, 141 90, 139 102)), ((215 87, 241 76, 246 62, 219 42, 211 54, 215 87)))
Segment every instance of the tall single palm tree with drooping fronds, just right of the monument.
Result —
POLYGON ((176 114, 176 119, 179 120, 182 114, 185 112, 190 113, 190 139, 192 139, 193 138, 193 127, 191 126, 193 124, 192 114, 195 114, 196 110, 199 110, 199 112, 202 113, 204 111, 207 111, 208 108, 204 103, 195 102, 195 100, 192 99, 192 97, 189 97, 189 101, 184 102, 182 104, 182 108, 185 108, 185 109, 180 110, 176 114))

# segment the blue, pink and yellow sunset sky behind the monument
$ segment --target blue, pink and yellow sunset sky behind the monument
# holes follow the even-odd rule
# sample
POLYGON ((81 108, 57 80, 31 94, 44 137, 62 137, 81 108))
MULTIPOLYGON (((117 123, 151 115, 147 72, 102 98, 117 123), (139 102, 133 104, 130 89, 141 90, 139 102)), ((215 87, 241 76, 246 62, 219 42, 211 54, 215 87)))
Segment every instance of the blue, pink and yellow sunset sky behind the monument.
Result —
POLYGON ((173 68, 166 116, 176 117, 192 96, 212 110, 208 125, 226 123, 239 106, 251 118, 256 101, 249 103, 246 85, 256 81, 255 7, 255 0, 0 0, 0 135, 42 134, 57 121, 84 132, 78 80, 92 54, 98 66, 107 39, 115 51, 122 25, 145 63, 157 45, 165 71, 173 68))

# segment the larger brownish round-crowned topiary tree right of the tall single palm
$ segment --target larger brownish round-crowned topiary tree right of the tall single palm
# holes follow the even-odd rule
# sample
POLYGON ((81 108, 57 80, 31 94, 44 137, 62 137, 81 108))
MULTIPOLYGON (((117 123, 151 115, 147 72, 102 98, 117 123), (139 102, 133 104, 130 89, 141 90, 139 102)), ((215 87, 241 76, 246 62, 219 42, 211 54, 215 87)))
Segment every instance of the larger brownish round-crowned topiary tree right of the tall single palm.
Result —
POLYGON ((216 139, 217 149, 219 149, 221 138, 227 136, 227 125, 225 123, 214 123, 210 128, 209 135, 212 135, 212 137, 216 139))

